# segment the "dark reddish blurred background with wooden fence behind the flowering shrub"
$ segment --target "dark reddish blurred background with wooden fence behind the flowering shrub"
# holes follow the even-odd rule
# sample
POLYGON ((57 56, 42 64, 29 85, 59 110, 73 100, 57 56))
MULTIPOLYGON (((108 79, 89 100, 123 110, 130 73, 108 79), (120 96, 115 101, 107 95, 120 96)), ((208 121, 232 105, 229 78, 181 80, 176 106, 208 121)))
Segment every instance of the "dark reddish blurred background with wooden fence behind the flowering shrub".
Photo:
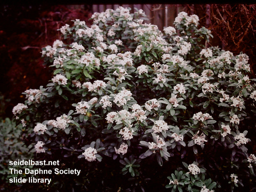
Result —
POLYGON ((65 23, 80 19, 90 26, 94 12, 119 6, 143 9, 149 20, 163 30, 173 26, 181 11, 200 18, 200 26, 212 31, 209 46, 219 46, 234 55, 249 56, 251 77, 256 72, 256 5, 216 4, 134 4, 134 5, 3 5, 0 7, 0 119, 12 117, 13 106, 23 103, 26 89, 38 89, 51 79, 43 65, 41 48, 60 39, 57 31, 65 23))

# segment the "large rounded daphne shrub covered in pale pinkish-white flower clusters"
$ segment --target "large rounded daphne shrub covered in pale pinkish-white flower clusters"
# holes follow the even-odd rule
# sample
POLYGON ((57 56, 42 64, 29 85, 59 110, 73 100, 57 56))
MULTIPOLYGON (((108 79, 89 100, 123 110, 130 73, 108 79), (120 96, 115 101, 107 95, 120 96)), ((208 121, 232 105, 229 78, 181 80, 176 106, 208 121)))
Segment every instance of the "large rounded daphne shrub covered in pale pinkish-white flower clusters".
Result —
POLYGON ((13 108, 37 158, 82 170, 76 185, 60 176, 48 187, 255 189, 256 159, 246 148, 256 117, 248 56, 207 48, 210 31, 185 12, 163 33, 143 24, 143 10, 108 9, 92 20, 60 28, 66 43, 42 51, 53 78, 13 108))

